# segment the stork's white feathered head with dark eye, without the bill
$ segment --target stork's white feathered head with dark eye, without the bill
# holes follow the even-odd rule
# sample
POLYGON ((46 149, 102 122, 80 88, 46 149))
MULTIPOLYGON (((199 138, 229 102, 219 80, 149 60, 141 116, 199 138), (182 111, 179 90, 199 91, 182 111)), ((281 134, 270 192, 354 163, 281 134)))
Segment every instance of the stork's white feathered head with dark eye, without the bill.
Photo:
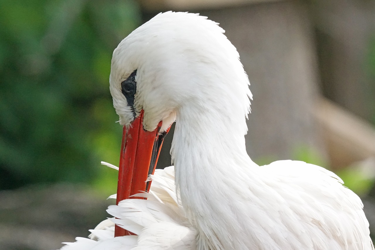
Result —
POLYGON ((113 52, 110 75, 120 124, 129 126, 144 110, 143 128, 153 131, 163 121, 160 131, 165 131, 182 104, 225 87, 233 99, 243 96, 240 111, 248 112, 248 78, 223 33, 217 23, 198 14, 165 12, 123 39, 113 52), (216 81, 210 86, 208 78, 215 77, 230 77, 231 85, 216 81), (241 78, 238 86, 236 77, 241 78))

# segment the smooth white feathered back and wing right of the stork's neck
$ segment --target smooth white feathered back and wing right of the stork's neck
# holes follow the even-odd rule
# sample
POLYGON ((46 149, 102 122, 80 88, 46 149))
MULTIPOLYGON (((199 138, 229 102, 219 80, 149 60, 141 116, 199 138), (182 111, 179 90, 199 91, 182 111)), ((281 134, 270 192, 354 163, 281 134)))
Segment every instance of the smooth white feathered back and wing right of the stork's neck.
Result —
POLYGON ((335 173, 291 160, 261 168, 265 184, 284 200, 279 206, 279 224, 299 241, 311 241, 312 249, 374 249, 362 201, 335 173), (287 216, 282 217, 280 211, 287 216))

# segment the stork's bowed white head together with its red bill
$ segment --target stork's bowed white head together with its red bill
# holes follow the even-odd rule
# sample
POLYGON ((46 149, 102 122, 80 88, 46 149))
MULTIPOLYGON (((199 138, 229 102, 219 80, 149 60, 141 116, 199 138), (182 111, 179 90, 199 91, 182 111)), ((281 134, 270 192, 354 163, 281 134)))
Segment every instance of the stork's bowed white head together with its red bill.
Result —
POLYGON ((147 190, 144 182, 153 173, 163 134, 181 107, 205 107, 210 99, 220 112, 238 113, 242 119, 249 113, 248 77, 223 33, 217 23, 198 14, 165 12, 114 50, 110 90, 124 127, 118 187, 130 187, 129 192, 117 190, 118 202, 147 190), (147 171, 138 175, 138 169, 147 171))

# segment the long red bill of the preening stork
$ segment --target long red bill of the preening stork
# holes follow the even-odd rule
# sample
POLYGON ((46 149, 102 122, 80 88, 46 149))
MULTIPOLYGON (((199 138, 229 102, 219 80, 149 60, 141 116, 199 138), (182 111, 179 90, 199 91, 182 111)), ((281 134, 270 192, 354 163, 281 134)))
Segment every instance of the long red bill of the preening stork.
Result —
MULTIPOLYGON (((124 199, 144 199, 130 197, 133 194, 150 190, 150 181, 146 183, 148 175, 154 173, 163 139, 169 129, 159 135, 162 122, 159 122, 152 132, 143 129, 143 110, 128 130, 123 128, 120 152, 120 166, 118 170, 116 204, 124 199)), ((131 235, 131 232, 115 226, 115 237, 131 235)))

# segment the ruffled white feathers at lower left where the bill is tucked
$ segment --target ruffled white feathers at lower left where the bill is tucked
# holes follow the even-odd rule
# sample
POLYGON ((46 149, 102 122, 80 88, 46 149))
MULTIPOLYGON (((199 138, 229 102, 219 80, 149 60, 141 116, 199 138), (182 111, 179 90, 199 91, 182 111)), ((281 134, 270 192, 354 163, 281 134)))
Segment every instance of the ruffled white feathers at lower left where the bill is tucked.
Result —
POLYGON ((156 170, 151 179, 150 193, 136 195, 147 200, 127 199, 109 206, 107 212, 116 218, 104 220, 90 230, 90 239, 77 237, 76 242, 65 243, 62 250, 196 249, 195 229, 184 216, 174 191, 174 168, 156 170), (114 238, 115 223, 137 235, 114 238))

